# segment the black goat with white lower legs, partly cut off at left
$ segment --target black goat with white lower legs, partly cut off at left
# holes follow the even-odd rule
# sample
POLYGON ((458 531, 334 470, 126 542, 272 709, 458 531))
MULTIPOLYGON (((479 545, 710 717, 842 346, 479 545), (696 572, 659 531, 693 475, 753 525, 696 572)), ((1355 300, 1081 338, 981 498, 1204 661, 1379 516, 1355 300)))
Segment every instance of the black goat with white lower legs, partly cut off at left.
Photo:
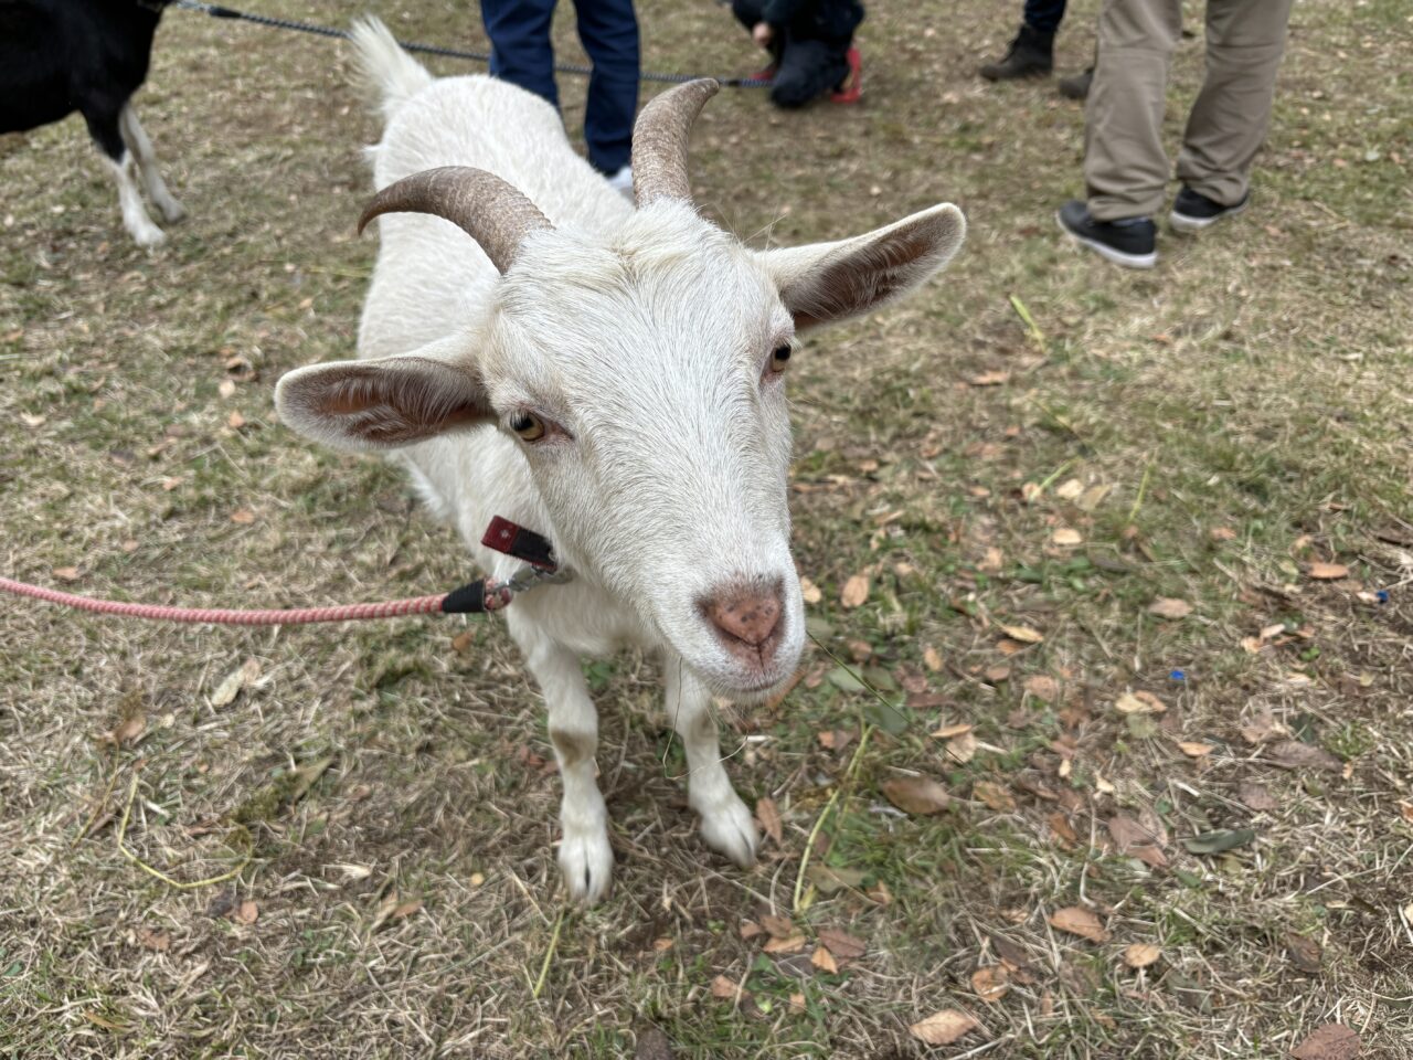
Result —
POLYGON ((157 171, 131 96, 147 76, 153 34, 170 0, 0 0, 0 133, 78 110, 107 155, 123 225, 141 246, 165 236, 137 192, 167 220, 185 215, 157 171))

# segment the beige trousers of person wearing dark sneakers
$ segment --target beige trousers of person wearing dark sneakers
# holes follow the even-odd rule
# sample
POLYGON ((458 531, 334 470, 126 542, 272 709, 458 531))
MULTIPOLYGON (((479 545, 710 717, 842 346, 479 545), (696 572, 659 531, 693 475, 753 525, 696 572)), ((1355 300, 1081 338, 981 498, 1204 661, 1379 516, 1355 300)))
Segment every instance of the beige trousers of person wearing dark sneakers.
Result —
MULTIPOLYGON (((1208 0, 1207 76, 1177 155, 1177 177, 1224 206, 1246 195, 1270 123, 1291 0, 1208 0)), ((1105 0, 1085 109, 1084 179, 1095 220, 1153 216, 1169 181, 1167 68, 1181 0, 1105 0)))

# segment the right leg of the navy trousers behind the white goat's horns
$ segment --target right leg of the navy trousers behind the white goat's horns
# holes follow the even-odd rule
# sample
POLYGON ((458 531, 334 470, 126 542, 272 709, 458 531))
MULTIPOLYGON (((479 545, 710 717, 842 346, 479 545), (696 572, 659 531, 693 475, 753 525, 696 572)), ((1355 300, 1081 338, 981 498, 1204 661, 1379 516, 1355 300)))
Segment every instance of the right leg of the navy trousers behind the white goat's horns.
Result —
POLYGON ((633 0, 575 0, 579 41, 593 62, 584 113, 589 163, 613 175, 629 164, 637 114, 639 42, 633 0))

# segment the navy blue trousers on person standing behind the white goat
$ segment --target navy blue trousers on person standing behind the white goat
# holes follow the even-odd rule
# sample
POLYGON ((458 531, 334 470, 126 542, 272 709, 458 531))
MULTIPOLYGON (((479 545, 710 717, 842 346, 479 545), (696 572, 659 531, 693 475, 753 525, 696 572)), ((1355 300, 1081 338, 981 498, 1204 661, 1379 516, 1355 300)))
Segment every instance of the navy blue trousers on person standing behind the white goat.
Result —
MULTIPOLYGON (((490 38, 490 73, 560 106, 550 21, 555 0, 482 0, 490 38)), ((584 139, 595 170, 629 164, 637 114, 637 17, 633 0, 575 0, 579 41, 593 62, 584 139)))

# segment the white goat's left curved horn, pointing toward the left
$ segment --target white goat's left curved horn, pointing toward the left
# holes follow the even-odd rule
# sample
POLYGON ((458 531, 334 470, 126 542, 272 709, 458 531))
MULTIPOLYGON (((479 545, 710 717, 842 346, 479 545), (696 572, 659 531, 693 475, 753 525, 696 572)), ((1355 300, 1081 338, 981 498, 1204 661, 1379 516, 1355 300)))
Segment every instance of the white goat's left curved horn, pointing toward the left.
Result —
POLYGON ((383 213, 431 213, 456 225, 480 243, 490 263, 504 273, 520 242, 531 232, 552 229, 544 213, 506 181, 469 165, 442 165, 389 184, 363 209, 359 235, 383 213))

